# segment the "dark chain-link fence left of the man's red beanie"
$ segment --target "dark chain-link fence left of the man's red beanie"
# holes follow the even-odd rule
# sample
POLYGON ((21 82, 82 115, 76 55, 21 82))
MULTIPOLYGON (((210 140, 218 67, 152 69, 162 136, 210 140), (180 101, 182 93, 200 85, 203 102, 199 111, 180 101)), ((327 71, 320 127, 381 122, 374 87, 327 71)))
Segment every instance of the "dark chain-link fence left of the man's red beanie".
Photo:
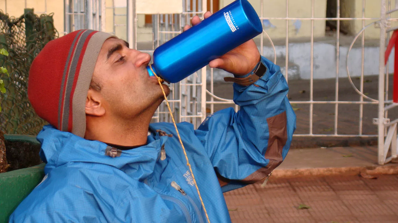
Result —
POLYGON ((7 57, 0 55, 0 66, 10 73, 2 77, 7 92, 0 95, 0 130, 36 135, 42 129, 45 121, 36 115, 27 97, 29 68, 45 44, 57 37, 52 14, 39 16, 25 9, 15 18, 0 11, 0 49, 9 52, 7 57))

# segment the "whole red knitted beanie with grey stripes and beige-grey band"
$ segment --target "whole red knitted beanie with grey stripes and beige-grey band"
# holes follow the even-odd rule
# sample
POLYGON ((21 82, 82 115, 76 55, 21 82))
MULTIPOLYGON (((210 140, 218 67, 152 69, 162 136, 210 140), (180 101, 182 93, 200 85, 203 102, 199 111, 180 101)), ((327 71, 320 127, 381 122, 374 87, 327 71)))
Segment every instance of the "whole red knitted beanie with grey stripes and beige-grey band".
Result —
POLYGON ((112 35, 77 30, 48 42, 29 70, 28 98, 45 121, 84 137, 86 98, 103 42, 112 35))

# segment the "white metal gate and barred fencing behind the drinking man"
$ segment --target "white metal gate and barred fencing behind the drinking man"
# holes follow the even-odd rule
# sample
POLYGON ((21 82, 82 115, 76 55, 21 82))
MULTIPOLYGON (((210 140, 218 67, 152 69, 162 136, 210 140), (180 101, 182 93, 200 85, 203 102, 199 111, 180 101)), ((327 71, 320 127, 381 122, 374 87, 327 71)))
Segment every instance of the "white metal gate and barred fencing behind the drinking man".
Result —
MULTIPOLYGON (((91 28, 98 29, 101 31, 105 31, 105 13, 107 10, 112 10, 113 13, 113 31, 111 33, 117 34, 118 27, 124 27, 126 35, 126 40, 130 42, 130 45, 134 48, 137 48, 140 44, 140 41, 137 39, 143 33, 137 33, 137 13, 135 12, 135 2, 136 0, 125 0, 127 5, 127 10, 125 13, 117 13, 116 12, 116 3, 118 0, 65 0, 65 31, 68 33, 75 29, 81 28, 91 28), (111 4, 110 4, 111 3, 111 4), (116 23, 116 17, 125 17, 126 23, 120 24, 116 23)), ((384 51, 386 41, 389 40, 390 31, 394 30, 391 28, 391 24, 394 21, 397 21, 396 18, 391 18, 391 13, 397 11, 398 9, 398 0, 392 2, 392 0, 380 0, 381 12, 378 14, 378 17, 366 17, 365 16, 365 0, 362 0, 362 13, 359 16, 350 17, 350 16, 341 16, 340 10, 340 1, 336 0, 336 16, 335 17, 315 17, 315 0, 308 0, 310 5, 310 13, 305 17, 292 17, 289 16, 289 0, 280 1, 275 0, 276 2, 284 2, 286 5, 285 15, 280 17, 266 17, 264 15, 264 6, 265 3, 270 4, 271 0, 250 0, 250 2, 256 2, 260 7, 259 15, 261 21, 263 21, 265 31, 261 34, 259 38, 259 48, 261 55, 265 55, 264 53, 264 38, 267 37, 271 42, 271 47, 273 52, 271 56, 269 56, 269 52, 266 52, 266 56, 273 57, 273 60, 277 60, 277 54, 280 55, 279 58, 285 58, 285 64, 282 65, 281 68, 284 69, 284 75, 289 81, 289 47, 291 43, 291 38, 289 37, 289 33, 291 34, 291 29, 289 27, 292 26, 291 22, 295 21, 294 25, 301 25, 301 22, 310 22, 310 62, 309 62, 309 80, 310 80, 310 97, 309 100, 291 100, 292 104, 306 104, 309 106, 309 131, 305 134, 296 134, 295 136, 312 136, 312 137, 326 137, 326 136, 335 136, 335 137, 378 137, 378 163, 384 164, 389 162, 392 158, 397 157, 397 123, 398 119, 394 121, 390 121, 388 119, 388 111, 392 108, 398 106, 398 104, 393 103, 390 100, 391 96, 388 94, 388 76, 389 76, 389 65, 384 67, 384 51), (395 7, 392 9, 392 4, 395 3, 395 7), (273 27, 271 21, 284 21, 285 22, 285 46, 284 48, 275 47, 273 41, 267 35, 267 28, 273 27), (334 100, 314 100, 314 23, 318 21, 336 21, 336 54, 335 54, 335 95, 334 100), (341 23, 346 21, 361 21, 362 29, 359 33, 355 33, 356 36, 351 44, 348 52, 341 52, 340 40, 340 26, 341 23), (297 22, 297 24, 296 24, 297 22), (380 51, 379 51, 379 70, 378 70, 378 98, 369 98, 363 92, 363 84, 364 84, 364 75, 365 75, 365 35, 363 31, 371 26, 377 25, 380 29, 380 51), (359 99, 357 101, 341 101, 339 100, 339 78, 341 77, 342 72, 346 72, 349 77, 349 53, 353 47, 353 44, 357 38, 361 38, 361 72, 359 75, 360 86, 359 89, 352 84, 351 78, 349 81, 359 94, 359 99), (281 50, 282 49, 282 50, 281 50), (344 60, 342 60, 341 56, 346 56, 345 64, 344 60), (345 67, 345 69, 341 69, 341 66, 345 67), (345 71, 346 70, 346 71, 345 71), (386 79, 387 77, 387 79, 386 79), (387 80, 387 81, 386 81, 387 80), (334 127, 333 132, 330 134, 316 134, 313 132, 313 117, 314 117, 314 105, 319 104, 333 104, 334 105, 334 127), (359 129, 357 134, 341 134, 338 129, 338 118, 339 118, 339 106, 346 104, 356 104, 359 106, 359 129), (377 135, 367 135, 363 133, 363 112, 364 105, 373 105, 378 106, 378 116, 375 117, 374 123, 378 126, 377 135), (391 149, 391 150, 389 150, 391 149), (389 152, 390 151, 390 152, 389 152), (389 153, 388 153, 389 152, 389 153), (390 156, 387 158, 387 154, 390 156)), ((319 1, 320 2, 320 1, 319 1)), ((360 2, 360 1, 356 1, 360 2)), ((148 52, 149 54, 153 53, 153 50, 159 46, 160 44, 166 42, 170 38, 181 33, 181 29, 185 24, 188 24, 190 18, 193 15, 199 15, 203 17, 204 12, 207 9, 207 0, 193 0, 191 7, 191 1, 183 0, 183 13, 178 15, 168 15, 168 14, 156 14, 152 15, 152 31, 150 31, 152 35, 151 47, 150 49, 139 49, 143 52, 148 52)), ((290 1, 290 4, 294 3, 294 1, 290 1)), ((318 3, 318 2, 317 2, 318 3)), ((254 3, 253 3, 254 4, 254 3)), ((150 6, 148 6, 150 7, 150 6)), ((210 8, 213 10, 213 0, 210 0, 210 8)), ((222 7, 220 7, 222 8, 222 7)), ((145 33, 146 35, 148 33, 145 33)), ((267 40, 267 39, 265 39, 267 40)), ((278 58, 278 59, 279 59, 278 58)), ((359 58, 358 58, 359 59, 359 58)), ((358 71, 357 71, 358 72, 358 71)), ((234 103, 232 100, 226 100, 214 95, 214 83, 213 83, 213 74, 214 70, 204 67, 203 69, 197 71, 194 75, 189 76, 187 79, 184 79, 180 83, 172 84, 170 86, 171 94, 169 96, 169 100, 171 102, 171 106, 177 121, 188 121, 191 122, 197 127, 201 121, 206 116, 206 106, 209 106, 209 110, 211 113, 214 112, 215 104, 231 104, 234 103), (208 69, 208 70, 207 70, 208 69), (206 74, 210 75, 210 88, 206 87, 206 74), (206 94, 211 96, 209 101, 206 100, 206 94)), ((237 106, 235 105, 235 109, 237 110, 237 106)), ((341 115, 340 115, 341 116, 341 115)), ((155 116, 153 117, 153 121, 170 121, 170 117, 168 116, 168 112, 164 104, 160 106, 155 116)))

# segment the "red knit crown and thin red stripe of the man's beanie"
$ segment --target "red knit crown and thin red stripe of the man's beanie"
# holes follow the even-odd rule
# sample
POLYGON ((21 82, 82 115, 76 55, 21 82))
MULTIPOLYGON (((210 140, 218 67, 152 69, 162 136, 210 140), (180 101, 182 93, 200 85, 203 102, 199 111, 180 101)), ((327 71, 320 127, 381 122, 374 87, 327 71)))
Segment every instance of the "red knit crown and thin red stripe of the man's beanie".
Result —
MULTIPOLYGON (((76 50, 81 50, 78 65, 76 67, 76 73, 74 74, 74 80, 72 85, 72 91, 70 95, 70 108, 65 108, 68 112, 68 131, 72 131, 72 100, 73 94, 76 89, 76 83, 80 72, 81 63, 86 52, 88 42, 92 35, 96 32, 90 33, 86 39, 82 49, 76 49, 76 45, 79 38, 76 38, 75 46, 71 52, 69 63, 66 64, 70 47, 72 46, 73 40, 81 30, 74 31, 63 37, 57 38, 48 42, 43 50, 33 60, 29 70, 29 82, 28 82, 28 98, 31 105, 37 115, 43 118, 51 125, 61 129, 58 126, 58 115, 60 114, 60 120, 62 120, 62 110, 59 111, 59 102, 64 101, 63 95, 66 90, 66 81, 68 79, 68 72, 72 62, 72 56, 76 50), (66 66, 65 66, 66 65, 66 66), (62 75, 66 67, 66 75, 64 79, 64 90, 60 94, 62 75), (61 97, 61 100, 60 100, 61 97)), ((79 35, 82 35, 81 32, 79 35)), ((63 104, 61 104, 62 108, 63 104)))

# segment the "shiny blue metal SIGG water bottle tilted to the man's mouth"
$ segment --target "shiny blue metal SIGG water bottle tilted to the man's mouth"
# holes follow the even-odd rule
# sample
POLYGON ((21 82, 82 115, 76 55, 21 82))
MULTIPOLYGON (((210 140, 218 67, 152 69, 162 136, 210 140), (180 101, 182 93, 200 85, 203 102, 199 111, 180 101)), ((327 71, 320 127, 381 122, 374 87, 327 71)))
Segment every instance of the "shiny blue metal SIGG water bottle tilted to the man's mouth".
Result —
POLYGON ((150 76, 177 83, 263 31, 261 21, 247 0, 236 0, 198 25, 165 42, 147 67, 150 76))

